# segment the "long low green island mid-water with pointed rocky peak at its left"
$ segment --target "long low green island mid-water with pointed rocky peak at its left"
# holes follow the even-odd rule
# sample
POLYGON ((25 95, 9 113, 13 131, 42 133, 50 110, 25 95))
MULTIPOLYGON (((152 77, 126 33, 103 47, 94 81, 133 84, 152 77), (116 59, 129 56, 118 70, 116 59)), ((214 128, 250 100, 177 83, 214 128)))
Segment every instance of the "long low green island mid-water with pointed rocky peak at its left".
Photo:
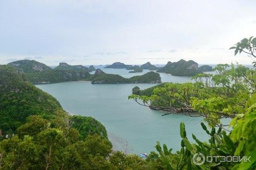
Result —
POLYGON ((141 76, 124 78, 117 74, 106 74, 101 69, 96 69, 90 78, 92 84, 125 84, 125 83, 160 83, 160 74, 150 71, 141 76))

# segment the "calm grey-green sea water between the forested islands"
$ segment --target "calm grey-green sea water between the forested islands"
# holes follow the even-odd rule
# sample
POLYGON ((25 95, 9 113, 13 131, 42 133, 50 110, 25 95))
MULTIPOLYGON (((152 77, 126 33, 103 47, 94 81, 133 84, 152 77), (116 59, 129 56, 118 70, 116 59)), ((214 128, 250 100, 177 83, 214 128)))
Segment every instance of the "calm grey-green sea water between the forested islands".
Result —
MULTIPOLYGON (((125 69, 102 70, 123 77, 147 72, 144 70, 143 73, 131 74, 125 69)), ((160 76, 163 82, 191 81, 191 77, 174 77, 162 73, 160 76)), ((180 122, 185 123, 187 136, 191 141, 192 133, 203 141, 209 139, 201 128, 201 117, 192 118, 182 114, 162 116, 159 111, 153 111, 128 100, 128 95, 135 85, 145 89, 155 84, 92 85, 90 82, 63 82, 36 86, 58 99, 69 113, 92 116, 102 122, 108 130, 108 137, 115 150, 128 150, 137 154, 150 153, 152 150, 156 151, 154 146, 157 141, 161 144, 166 143, 174 150, 180 150, 180 122)))

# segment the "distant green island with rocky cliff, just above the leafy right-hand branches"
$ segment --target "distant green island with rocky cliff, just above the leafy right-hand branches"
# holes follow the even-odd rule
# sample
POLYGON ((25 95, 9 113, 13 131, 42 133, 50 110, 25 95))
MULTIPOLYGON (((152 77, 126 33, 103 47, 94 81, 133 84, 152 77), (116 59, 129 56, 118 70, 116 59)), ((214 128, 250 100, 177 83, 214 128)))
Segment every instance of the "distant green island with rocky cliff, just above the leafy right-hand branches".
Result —
POLYGON ((164 67, 157 70, 158 73, 172 74, 173 76, 195 76, 198 73, 212 70, 209 65, 198 68, 198 63, 192 60, 185 61, 180 59, 178 62, 168 62, 164 67))

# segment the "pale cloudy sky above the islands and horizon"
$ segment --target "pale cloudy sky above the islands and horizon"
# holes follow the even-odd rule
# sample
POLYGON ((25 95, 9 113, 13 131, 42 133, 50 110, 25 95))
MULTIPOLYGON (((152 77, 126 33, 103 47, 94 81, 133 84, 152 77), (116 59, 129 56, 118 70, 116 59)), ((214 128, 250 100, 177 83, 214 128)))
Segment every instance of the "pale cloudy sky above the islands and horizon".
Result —
POLYGON ((251 64, 256 0, 0 0, 0 64, 251 64))

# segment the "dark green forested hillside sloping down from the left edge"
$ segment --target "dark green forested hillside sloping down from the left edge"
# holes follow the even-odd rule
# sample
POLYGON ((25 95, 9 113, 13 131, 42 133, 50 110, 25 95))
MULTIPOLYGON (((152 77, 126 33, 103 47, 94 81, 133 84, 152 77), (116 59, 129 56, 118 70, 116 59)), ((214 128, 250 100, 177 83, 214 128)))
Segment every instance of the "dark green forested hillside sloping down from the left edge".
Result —
POLYGON ((30 115, 53 116, 62 109, 51 95, 29 82, 15 68, 0 65, 0 129, 16 130, 30 115))

